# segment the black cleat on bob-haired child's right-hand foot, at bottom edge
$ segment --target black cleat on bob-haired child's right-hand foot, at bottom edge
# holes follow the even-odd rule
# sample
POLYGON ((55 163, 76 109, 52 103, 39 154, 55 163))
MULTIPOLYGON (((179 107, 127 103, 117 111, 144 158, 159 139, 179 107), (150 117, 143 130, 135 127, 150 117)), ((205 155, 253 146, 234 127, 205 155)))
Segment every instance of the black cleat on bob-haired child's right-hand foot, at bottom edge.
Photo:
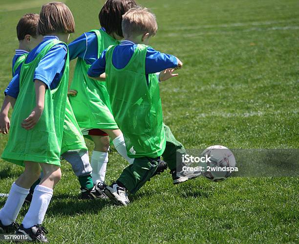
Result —
POLYGON ((16 234, 27 236, 26 241, 42 243, 48 243, 48 239, 45 236, 45 234, 47 233, 48 231, 41 225, 34 225, 30 228, 25 229, 21 224, 16 231, 16 234))

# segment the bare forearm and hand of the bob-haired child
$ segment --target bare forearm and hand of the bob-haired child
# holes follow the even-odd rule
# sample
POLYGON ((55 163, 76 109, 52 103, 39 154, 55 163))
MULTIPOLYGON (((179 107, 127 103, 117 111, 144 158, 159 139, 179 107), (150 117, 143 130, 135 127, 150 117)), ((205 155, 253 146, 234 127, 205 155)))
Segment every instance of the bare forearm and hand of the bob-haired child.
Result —
POLYGON ((40 120, 43 108, 44 108, 44 94, 46 89, 46 84, 40 80, 34 80, 35 86, 35 108, 29 114, 27 118, 23 120, 21 126, 26 130, 31 130, 40 120))

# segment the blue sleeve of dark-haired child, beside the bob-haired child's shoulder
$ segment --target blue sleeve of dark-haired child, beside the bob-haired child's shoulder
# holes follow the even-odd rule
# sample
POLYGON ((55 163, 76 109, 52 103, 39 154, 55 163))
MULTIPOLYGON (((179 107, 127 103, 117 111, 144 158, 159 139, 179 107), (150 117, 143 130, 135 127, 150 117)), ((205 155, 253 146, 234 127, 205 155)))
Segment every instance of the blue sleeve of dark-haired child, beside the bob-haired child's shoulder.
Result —
POLYGON ((86 64, 92 65, 98 58, 98 38, 94 32, 83 33, 75 41, 68 44, 69 59, 82 58, 86 64))

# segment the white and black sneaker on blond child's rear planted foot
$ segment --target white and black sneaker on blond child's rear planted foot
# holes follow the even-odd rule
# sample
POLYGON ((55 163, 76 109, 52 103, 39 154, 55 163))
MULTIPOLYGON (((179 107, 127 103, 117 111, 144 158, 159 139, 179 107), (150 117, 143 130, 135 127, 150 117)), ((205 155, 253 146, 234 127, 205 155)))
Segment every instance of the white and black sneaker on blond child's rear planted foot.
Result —
POLYGON ((116 205, 127 206, 130 203, 126 188, 119 186, 116 182, 105 188, 105 194, 116 205))

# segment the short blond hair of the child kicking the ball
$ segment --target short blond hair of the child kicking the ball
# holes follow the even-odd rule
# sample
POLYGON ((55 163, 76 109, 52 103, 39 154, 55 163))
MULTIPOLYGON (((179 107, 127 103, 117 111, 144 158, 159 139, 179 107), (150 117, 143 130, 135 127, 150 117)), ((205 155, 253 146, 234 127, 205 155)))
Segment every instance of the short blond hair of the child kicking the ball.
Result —
POLYGON ((131 9, 123 15, 122 29, 128 36, 144 33, 154 36, 156 35, 158 25, 155 15, 148 8, 140 7, 131 9))

